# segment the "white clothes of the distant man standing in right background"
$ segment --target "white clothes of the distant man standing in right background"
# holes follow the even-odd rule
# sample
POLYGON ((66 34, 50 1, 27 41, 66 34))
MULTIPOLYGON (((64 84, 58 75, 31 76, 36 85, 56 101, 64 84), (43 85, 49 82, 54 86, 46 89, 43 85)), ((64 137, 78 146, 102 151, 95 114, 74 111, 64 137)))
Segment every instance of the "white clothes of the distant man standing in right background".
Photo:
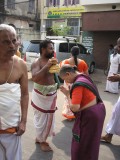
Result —
MULTIPOLYGON (((108 77, 118 73, 118 67, 120 64, 120 55, 118 53, 116 55, 112 54, 110 57, 110 63, 111 64, 108 77)), ((118 93, 118 82, 111 82, 107 80, 106 91, 109 91, 111 93, 118 93)))

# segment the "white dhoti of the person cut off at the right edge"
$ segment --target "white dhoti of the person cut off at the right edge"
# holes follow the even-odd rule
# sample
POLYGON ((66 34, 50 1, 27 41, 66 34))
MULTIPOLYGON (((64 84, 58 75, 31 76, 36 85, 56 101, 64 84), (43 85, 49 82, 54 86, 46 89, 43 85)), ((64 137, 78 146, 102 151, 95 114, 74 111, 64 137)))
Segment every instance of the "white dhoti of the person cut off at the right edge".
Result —
POLYGON ((120 97, 114 106, 112 117, 106 127, 106 132, 120 136, 120 97))

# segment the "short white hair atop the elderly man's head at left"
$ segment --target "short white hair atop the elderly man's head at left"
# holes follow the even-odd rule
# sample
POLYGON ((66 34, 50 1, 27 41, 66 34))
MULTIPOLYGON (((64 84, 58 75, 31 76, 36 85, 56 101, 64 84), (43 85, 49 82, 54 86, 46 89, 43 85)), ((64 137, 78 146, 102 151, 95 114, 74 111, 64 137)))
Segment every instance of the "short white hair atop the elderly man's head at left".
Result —
POLYGON ((16 34, 15 28, 8 24, 0 24, 0 32, 1 31, 9 31, 9 32, 16 34))

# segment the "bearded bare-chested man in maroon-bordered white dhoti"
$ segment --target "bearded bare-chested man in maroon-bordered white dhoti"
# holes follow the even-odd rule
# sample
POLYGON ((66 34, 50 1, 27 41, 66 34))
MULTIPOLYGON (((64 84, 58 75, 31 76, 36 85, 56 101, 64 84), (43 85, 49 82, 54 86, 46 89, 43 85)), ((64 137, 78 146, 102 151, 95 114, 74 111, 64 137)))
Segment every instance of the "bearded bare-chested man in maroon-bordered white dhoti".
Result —
POLYGON ((34 109, 34 125, 36 128, 36 142, 40 143, 42 151, 51 151, 46 142, 49 135, 54 135, 54 112, 56 111, 57 84, 54 74, 49 73, 53 64, 57 64, 54 56, 53 43, 44 40, 40 43, 40 55, 32 64, 32 106, 34 109))

